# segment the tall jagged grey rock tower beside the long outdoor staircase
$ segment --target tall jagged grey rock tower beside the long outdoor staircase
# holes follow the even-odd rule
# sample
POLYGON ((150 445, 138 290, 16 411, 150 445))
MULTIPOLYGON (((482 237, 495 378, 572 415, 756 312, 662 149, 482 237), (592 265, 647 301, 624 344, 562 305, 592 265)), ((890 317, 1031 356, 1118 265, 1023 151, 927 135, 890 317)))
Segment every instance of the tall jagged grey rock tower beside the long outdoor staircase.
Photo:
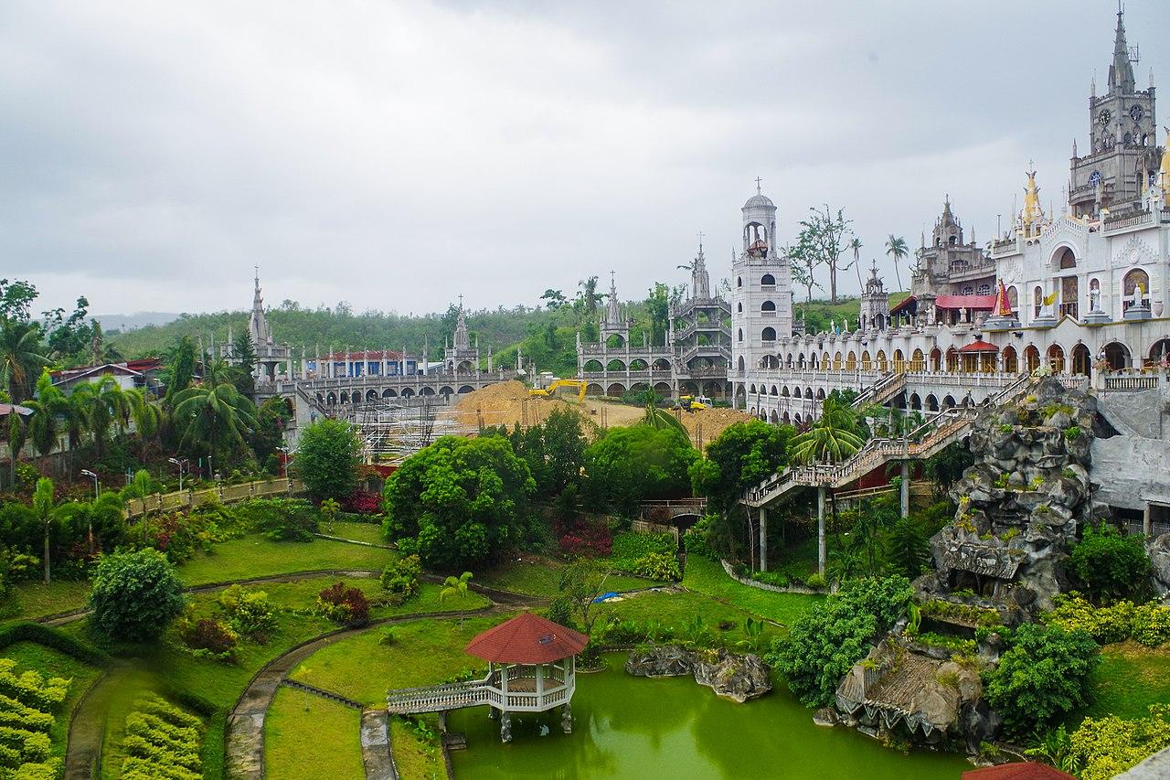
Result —
POLYGON ((983 412, 970 438, 976 463, 951 488, 958 509, 930 540, 935 570, 915 582, 920 596, 997 608, 1011 623, 1051 609, 1067 589, 1061 563, 1090 515, 1095 420, 1096 398, 1054 378, 983 412))

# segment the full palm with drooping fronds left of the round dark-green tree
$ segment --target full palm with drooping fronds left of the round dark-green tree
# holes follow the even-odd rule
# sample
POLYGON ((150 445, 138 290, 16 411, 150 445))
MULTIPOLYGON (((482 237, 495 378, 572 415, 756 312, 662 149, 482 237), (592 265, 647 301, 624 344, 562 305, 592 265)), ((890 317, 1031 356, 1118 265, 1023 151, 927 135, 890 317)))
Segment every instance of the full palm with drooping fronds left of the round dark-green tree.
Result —
POLYGON ((245 433, 256 429, 256 408, 226 377, 219 384, 204 377, 202 384, 174 397, 173 419, 183 431, 181 449, 190 452, 206 445, 213 463, 222 463, 220 447, 242 446, 245 433))

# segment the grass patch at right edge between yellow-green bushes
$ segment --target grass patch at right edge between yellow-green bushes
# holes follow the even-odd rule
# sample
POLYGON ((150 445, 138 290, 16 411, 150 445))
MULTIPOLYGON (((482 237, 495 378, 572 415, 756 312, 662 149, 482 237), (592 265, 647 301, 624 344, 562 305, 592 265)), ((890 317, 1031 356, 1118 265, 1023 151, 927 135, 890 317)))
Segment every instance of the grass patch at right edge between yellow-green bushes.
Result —
POLYGON ((1083 714, 1148 717, 1151 704, 1170 702, 1170 650, 1152 650, 1136 642, 1106 645, 1094 673, 1094 690, 1096 700, 1083 714))

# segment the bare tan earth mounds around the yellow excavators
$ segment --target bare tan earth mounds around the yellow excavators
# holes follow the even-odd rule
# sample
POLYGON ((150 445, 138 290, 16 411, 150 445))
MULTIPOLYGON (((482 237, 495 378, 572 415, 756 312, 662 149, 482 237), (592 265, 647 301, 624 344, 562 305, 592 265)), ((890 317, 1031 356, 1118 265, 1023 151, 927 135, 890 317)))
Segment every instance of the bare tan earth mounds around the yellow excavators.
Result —
MULTIPOLYGON (((577 396, 565 392, 557 398, 531 396, 519 382, 501 382, 482 390, 469 392, 455 404, 452 415, 462 424, 479 426, 536 425, 553 409, 573 409, 590 424, 591 429, 617 425, 633 425, 642 418, 642 409, 628 404, 586 398, 578 404, 577 396)), ((710 444, 723 429, 734 423, 751 419, 749 415, 734 409, 703 409, 696 412, 675 412, 690 433, 696 447, 710 444)))

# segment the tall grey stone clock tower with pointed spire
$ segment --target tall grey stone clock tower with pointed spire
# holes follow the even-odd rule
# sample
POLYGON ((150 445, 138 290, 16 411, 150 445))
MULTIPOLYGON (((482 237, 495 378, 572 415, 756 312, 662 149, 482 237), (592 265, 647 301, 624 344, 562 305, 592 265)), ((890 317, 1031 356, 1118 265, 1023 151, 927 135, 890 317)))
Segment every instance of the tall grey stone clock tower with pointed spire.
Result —
POLYGON ((1095 217, 1102 207, 1113 212, 1135 207, 1157 176, 1154 84, 1147 90, 1135 85, 1137 59, 1137 47, 1126 43, 1119 8, 1108 91, 1097 96, 1094 78, 1089 96, 1088 153, 1079 157, 1073 142, 1068 203, 1074 217, 1095 217))

